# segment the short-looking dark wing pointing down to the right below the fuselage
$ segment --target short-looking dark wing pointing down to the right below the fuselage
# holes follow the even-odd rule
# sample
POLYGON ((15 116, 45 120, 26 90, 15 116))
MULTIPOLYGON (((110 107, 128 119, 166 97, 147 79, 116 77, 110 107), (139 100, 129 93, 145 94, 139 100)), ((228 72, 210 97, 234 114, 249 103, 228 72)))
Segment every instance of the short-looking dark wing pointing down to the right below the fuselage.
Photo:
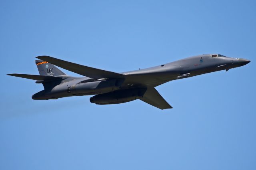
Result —
POLYGON ((148 88, 140 100, 159 109, 172 109, 154 87, 148 88))

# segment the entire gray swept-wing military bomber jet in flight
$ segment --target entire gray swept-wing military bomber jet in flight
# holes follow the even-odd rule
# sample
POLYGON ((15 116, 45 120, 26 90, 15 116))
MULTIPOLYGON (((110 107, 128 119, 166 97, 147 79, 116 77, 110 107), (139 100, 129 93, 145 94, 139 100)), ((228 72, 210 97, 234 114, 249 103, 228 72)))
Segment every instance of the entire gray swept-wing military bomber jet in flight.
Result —
POLYGON ((140 99, 159 109, 172 107, 156 91, 156 86, 214 71, 228 71, 250 62, 247 59, 231 58, 220 54, 203 54, 156 67, 115 73, 50 56, 36 58, 39 59, 36 60, 36 65, 40 75, 8 74, 42 83, 44 90, 32 95, 34 100, 94 95, 90 98, 90 102, 97 105, 118 104, 140 99), (54 65, 85 77, 68 76, 54 65))

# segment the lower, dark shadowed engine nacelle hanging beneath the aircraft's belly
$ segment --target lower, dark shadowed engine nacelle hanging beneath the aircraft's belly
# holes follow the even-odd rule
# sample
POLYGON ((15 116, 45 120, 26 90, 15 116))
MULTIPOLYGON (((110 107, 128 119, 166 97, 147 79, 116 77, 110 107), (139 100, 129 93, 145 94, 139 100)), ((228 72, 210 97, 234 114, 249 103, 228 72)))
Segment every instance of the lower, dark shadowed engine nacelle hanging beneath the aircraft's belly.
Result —
POLYGON ((110 93, 95 95, 90 98, 90 102, 97 105, 126 103, 140 99, 144 95, 145 91, 146 89, 144 88, 118 90, 110 93))

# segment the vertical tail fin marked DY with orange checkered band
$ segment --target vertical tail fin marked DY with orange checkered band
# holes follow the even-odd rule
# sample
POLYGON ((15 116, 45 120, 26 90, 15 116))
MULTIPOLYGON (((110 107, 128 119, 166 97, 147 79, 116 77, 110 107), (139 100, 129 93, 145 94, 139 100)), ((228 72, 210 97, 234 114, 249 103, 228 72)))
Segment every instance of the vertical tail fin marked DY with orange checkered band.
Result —
POLYGON ((48 76, 59 76, 66 75, 60 69, 58 69, 55 65, 48 63, 43 60, 36 60, 36 65, 40 75, 48 75, 48 76))

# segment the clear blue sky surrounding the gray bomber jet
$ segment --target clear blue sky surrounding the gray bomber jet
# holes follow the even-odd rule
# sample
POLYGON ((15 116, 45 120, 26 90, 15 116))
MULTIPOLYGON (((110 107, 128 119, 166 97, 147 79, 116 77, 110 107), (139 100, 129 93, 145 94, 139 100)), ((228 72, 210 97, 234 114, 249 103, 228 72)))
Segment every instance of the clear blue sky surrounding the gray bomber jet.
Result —
POLYGON ((255 0, 1 0, 0 169, 255 170, 255 55, 255 0), (251 63, 156 87, 167 110, 35 101, 41 84, 6 75, 38 55, 123 72, 206 53, 251 63))

